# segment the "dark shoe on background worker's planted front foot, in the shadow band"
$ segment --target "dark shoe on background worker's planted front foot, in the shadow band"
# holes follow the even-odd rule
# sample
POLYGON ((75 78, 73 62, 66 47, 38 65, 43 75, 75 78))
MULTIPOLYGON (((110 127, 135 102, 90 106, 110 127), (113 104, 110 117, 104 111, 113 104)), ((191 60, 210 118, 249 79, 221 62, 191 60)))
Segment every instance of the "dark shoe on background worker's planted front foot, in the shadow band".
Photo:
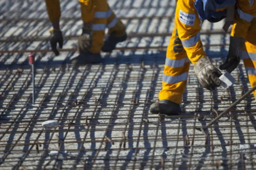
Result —
POLYGON ((81 52, 77 57, 71 60, 73 66, 83 66, 86 64, 97 64, 102 62, 103 58, 101 58, 100 53, 91 53, 89 51, 81 52))

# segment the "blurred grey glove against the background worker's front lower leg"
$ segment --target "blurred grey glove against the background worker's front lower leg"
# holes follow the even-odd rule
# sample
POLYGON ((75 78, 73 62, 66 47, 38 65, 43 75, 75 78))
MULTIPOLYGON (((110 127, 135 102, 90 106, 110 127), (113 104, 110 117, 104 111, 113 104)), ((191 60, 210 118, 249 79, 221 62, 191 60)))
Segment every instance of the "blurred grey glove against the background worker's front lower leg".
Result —
POLYGON ((78 51, 81 52, 88 52, 91 48, 92 43, 92 33, 90 29, 84 29, 82 35, 78 38, 78 51))

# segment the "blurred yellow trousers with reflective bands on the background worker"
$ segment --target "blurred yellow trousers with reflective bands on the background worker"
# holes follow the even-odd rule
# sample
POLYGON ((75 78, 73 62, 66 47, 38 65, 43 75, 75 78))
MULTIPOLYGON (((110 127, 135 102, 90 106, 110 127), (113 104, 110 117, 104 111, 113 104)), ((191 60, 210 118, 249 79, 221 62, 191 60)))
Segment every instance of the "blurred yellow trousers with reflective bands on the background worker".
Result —
POLYGON ((84 23, 92 23, 92 53, 100 53, 103 45, 105 29, 109 28, 109 34, 116 37, 125 34, 125 26, 116 18, 107 0, 79 0, 81 4, 82 20, 84 23))

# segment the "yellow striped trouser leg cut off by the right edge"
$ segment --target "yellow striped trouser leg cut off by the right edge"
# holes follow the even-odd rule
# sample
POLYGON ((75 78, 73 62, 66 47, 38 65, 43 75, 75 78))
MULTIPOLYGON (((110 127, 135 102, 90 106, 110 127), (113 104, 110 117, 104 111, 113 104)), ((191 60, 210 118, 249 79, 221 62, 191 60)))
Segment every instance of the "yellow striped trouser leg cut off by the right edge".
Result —
MULTIPOLYGON (((256 85, 256 19, 248 30, 242 58, 251 86, 256 85)), ((256 91, 254 91, 256 100, 256 91)))

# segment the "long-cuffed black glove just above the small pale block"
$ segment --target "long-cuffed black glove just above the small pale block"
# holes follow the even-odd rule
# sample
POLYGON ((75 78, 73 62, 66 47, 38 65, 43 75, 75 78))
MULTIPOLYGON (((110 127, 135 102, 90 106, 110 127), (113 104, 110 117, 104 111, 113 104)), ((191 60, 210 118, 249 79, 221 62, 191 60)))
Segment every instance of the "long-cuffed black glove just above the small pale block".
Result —
POLYGON ((231 73, 240 63, 240 56, 243 50, 245 40, 239 37, 230 36, 230 44, 228 50, 228 56, 225 63, 219 66, 221 70, 227 70, 231 73))

